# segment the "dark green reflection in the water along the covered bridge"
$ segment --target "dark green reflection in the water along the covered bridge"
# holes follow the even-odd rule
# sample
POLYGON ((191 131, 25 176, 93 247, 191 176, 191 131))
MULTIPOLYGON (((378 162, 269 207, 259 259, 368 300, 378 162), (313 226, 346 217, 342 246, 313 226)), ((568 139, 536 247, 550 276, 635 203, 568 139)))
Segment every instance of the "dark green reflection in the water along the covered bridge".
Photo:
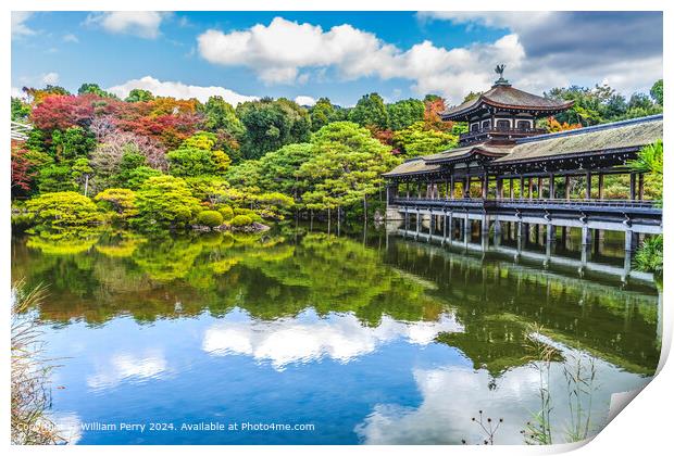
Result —
POLYGON ((658 364, 658 302, 652 294, 409 242, 395 242, 387 262, 438 284, 430 293, 447 300, 465 326, 464 332, 439 340, 459 347, 475 368, 498 375, 523 364, 532 324, 558 342, 634 372, 650 375, 658 364))

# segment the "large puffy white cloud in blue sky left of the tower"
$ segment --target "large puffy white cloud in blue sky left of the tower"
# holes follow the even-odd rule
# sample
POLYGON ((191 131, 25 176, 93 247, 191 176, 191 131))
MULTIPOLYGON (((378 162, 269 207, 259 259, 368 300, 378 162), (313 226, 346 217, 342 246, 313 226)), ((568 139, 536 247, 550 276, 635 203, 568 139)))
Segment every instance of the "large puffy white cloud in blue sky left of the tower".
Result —
POLYGON ((228 34, 211 29, 200 35, 198 42, 207 61, 247 66, 267 84, 297 83, 302 68, 333 66, 344 79, 407 78, 415 80, 412 88, 420 94, 435 91, 454 99, 469 87, 488 87, 495 62, 516 67, 525 56, 516 35, 454 49, 423 41, 402 51, 348 24, 323 30, 282 17, 269 26, 258 24, 228 34))

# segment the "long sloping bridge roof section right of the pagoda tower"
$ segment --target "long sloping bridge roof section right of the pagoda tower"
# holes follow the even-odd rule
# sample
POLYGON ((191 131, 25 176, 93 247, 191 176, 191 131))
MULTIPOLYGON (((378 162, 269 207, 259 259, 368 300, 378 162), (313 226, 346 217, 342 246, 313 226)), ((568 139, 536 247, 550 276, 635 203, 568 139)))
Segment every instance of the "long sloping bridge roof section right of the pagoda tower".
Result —
POLYGON ((492 163, 498 165, 617 149, 640 149, 658 139, 662 139, 662 115, 521 139, 508 155, 492 163))

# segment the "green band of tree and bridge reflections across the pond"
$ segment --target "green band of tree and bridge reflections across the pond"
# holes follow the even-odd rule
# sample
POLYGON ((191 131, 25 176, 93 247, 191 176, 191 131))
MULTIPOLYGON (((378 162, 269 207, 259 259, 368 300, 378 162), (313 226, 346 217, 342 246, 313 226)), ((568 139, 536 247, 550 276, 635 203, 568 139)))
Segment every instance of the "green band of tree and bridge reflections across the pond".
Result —
POLYGON ((494 376, 523 364, 533 322, 628 370, 654 369, 654 295, 440 251, 402 241, 377 250, 320 232, 34 235, 14 243, 13 273, 50 283, 41 317, 54 321, 104 322, 122 314, 152 321, 234 307, 271 320, 312 307, 376 326, 384 315, 435 321, 451 311, 465 331, 438 340, 494 376))

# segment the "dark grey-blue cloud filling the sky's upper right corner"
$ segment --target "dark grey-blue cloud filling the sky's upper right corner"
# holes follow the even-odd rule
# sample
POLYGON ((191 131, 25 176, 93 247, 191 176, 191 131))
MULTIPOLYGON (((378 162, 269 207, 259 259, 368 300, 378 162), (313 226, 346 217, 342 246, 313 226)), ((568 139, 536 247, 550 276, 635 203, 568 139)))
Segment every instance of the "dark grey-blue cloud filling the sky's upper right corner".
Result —
POLYGON ((422 20, 506 28, 526 59, 507 68, 519 87, 545 90, 606 81, 629 93, 662 77, 660 12, 434 12, 422 20))

